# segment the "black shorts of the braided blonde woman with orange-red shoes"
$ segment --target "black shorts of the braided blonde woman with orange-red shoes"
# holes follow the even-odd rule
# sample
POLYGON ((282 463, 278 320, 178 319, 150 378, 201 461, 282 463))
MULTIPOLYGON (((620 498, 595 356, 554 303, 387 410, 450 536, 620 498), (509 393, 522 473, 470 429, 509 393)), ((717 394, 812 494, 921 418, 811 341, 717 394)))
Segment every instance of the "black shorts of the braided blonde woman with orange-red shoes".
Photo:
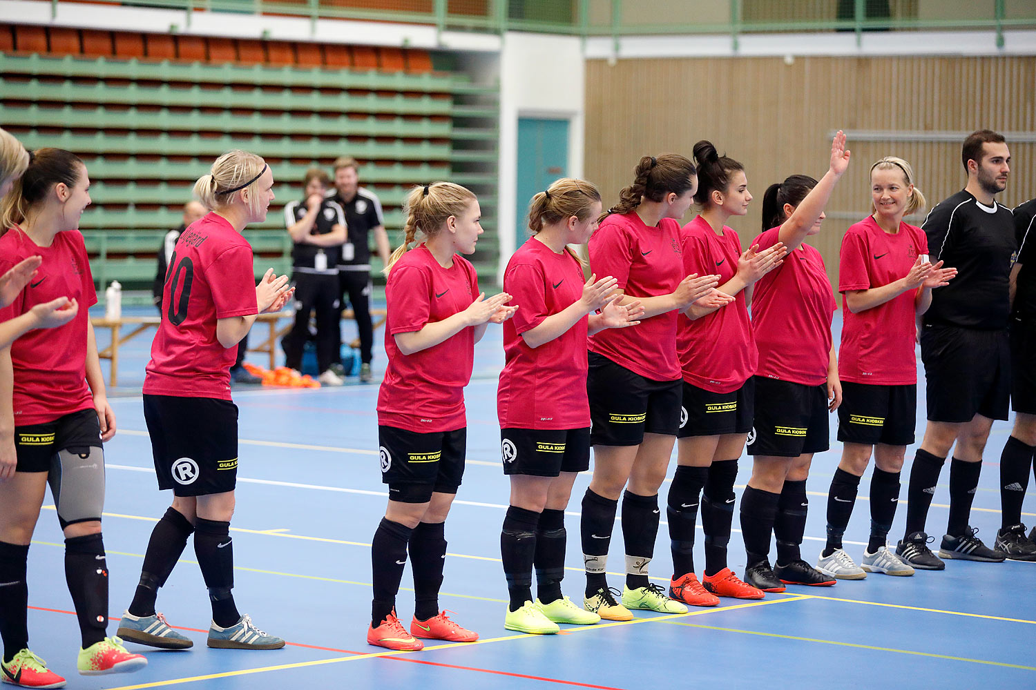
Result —
POLYGON ((432 493, 456 493, 464 476, 467 429, 419 433, 378 425, 381 483, 388 500, 428 503, 432 493))

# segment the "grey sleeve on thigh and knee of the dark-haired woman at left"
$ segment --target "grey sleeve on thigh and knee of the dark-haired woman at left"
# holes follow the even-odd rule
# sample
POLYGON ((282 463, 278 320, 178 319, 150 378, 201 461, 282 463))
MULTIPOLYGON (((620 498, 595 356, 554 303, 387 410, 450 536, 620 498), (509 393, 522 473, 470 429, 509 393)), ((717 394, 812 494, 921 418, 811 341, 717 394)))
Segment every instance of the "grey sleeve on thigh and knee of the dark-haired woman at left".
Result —
POLYGON ((105 451, 97 446, 59 450, 48 477, 61 529, 100 521, 105 508, 105 451))

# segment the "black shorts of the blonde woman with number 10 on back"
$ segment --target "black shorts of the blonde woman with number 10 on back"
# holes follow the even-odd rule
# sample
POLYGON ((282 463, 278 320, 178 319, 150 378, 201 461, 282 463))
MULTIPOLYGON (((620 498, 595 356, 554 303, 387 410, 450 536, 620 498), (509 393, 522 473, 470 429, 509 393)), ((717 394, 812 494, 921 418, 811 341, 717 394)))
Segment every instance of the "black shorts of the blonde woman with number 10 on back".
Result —
POLYGON ((145 395, 159 488, 210 496, 237 485, 237 406, 211 397, 145 395))

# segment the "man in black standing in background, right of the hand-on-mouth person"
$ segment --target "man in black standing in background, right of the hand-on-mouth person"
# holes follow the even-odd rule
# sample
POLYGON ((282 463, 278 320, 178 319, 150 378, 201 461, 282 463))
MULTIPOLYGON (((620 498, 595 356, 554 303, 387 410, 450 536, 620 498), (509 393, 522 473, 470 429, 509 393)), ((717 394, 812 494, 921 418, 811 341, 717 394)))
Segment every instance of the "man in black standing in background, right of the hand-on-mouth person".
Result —
POLYGON ((388 265, 392 249, 381 215, 381 202, 373 191, 359 186, 357 170, 358 163, 350 156, 341 156, 335 160, 335 192, 330 198, 345 211, 349 237, 342 245, 342 258, 338 265, 339 292, 342 305, 345 305, 346 296, 352 305, 356 329, 359 331, 359 381, 368 383, 372 378, 371 349, 374 344, 370 234, 374 234, 382 266, 388 265))

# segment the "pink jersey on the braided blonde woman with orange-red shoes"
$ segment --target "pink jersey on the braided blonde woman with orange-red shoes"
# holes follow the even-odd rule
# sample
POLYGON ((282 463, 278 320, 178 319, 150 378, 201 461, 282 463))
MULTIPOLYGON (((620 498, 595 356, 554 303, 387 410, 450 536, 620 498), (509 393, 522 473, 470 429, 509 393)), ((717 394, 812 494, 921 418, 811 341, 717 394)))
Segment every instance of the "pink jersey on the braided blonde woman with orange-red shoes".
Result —
POLYGON ((428 247, 419 244, 396 263, 385 284, 388 366, 378 390, 378 424, 420 433, 467 425, 464 386, 474 365, 474 329, 464 328, 412 355, 400 352, 395 336, 444 321, 478 296, 474 267, 459 254, 454 254, 453 266, 442 268, 428 247))

